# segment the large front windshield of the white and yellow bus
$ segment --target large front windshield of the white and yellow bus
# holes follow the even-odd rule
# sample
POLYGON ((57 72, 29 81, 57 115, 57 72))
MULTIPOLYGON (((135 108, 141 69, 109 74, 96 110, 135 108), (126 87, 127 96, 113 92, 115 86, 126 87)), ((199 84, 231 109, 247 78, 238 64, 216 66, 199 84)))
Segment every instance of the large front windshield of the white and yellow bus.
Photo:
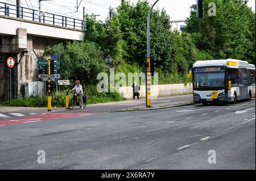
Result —
POLYGON ((197 90, 224 89, 225 72, 194 74, 194 88, 197 90))

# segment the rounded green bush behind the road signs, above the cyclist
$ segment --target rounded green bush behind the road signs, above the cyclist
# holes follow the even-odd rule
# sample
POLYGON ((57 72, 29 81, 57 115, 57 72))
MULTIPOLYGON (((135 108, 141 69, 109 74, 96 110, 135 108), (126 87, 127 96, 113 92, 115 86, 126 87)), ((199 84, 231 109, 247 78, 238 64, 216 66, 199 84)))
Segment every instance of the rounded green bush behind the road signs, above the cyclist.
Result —
POLYGON ((47 47, 44 54, 55 53, 60 54, 59 73, 63 79, 80 79, 86 85, 94 85, 97 83, 97 74, 108 68, 103 53, 92 42, 58 44, 47 47))

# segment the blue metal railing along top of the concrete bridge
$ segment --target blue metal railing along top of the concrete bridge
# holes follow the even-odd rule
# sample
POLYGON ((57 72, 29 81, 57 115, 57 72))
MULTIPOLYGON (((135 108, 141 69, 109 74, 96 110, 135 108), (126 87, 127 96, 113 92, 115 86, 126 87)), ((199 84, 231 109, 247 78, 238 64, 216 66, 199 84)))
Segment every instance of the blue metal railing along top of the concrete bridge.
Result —
POLYGON ((28 9, 27 7, 11 5, 3 2, 0 2, 0 15, 85 30, 84 20, 69 18, 67 16, 61 16, 43 11, 40 12, 39 16, 38 10, 28 9))

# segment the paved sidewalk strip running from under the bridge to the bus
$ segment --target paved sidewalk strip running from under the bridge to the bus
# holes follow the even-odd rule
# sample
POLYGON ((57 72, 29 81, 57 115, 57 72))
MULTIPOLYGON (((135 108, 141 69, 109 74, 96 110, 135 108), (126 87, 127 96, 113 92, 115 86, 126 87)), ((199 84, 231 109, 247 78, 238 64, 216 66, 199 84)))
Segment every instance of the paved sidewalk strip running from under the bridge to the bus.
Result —
MULTIPOLYGON (((191 102, 193 96, 192 94, 189 95, 176 95, 176 96, 166 96, 166 97, 159 97, 155 99, 151 99, 152 106, 156 104, 170 104, 175 102, 191 102)), ((127 108, 134 108, 134 107, 143 107, 146 104, 146 99, 135 99, 135 100, 123 100, 121 102, 108 102, 108 103, 98 103, 98 104, 89 104, 86 105, 84 110, 81 110, 79 106, 76 106, 73 110, 66 110, 65 107, 52 107, 51 112, 109 112, 109 111, 117 111, 127 108)), ((38 107, 12 107, 12 106, 0 106, 0 112, 23 112, 23 113, 30 113, 30 112, 38 112, 38 113, 46 113, 47 107, 45 108, 38 108, 38 107)))

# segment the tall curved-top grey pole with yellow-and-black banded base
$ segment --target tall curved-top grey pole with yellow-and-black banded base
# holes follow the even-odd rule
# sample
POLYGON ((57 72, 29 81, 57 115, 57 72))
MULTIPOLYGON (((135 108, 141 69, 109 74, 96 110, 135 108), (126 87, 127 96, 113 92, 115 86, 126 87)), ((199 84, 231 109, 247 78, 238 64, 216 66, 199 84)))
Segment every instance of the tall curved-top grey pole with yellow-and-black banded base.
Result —
POLYGON ((147 73, 146 73, 146 107, 151 107, 151 70, 150 70, 150 15, 153 7, 159 0, 151 6, 147 16, 147 73))

